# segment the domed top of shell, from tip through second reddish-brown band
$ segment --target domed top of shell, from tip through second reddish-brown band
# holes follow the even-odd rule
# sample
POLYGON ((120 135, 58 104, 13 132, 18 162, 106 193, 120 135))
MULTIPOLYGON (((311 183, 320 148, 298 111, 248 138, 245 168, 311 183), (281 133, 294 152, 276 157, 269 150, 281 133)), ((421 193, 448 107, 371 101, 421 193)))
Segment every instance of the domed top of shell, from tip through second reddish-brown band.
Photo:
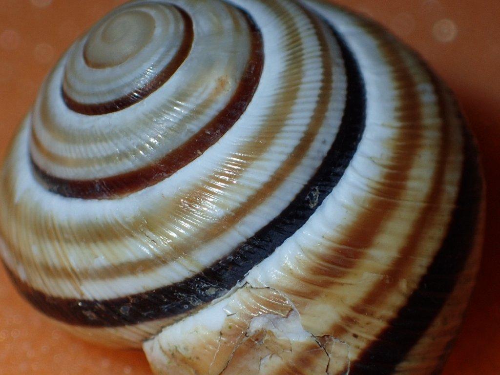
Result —
POLYGON ((49 190, 79 198, 141 190, 197 158, 245 111, 262 69, 260 31, 223 3, 184 7, 125 5, 61 59, 31 119, 34 170, 49 190), (101 55, 116 60, 104 65, 101 55))

